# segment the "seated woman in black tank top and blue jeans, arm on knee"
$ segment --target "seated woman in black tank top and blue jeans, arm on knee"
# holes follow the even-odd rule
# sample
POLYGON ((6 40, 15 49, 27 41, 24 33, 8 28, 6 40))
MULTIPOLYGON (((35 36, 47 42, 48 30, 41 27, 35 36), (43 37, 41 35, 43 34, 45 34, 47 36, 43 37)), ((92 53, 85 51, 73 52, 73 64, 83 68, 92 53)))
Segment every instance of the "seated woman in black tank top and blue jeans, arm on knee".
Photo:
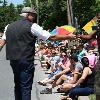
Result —
POLYGON ((89 60, 83 57, 81 60, 84 69, 81 78, 77 83, 72 84, 72 89, 67 96, 63 96, 61 100, 73 100, 77 96, 88 96, 94 93, 95 70, 89 67, 89 60))

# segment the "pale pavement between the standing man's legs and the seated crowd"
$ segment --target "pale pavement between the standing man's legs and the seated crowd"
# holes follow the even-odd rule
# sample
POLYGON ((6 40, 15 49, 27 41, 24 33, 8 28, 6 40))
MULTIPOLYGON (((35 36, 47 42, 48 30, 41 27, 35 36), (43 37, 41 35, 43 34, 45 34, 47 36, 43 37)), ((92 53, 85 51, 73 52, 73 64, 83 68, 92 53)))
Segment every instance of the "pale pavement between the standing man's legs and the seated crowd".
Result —
POLYGON ((52 94, 40 94, 40 91, 45 89, 46 86, 41 86, 37 83, 37 81, 42 80, 47 77, 45 71, 41 68, 41 63, 39 60, 35 60, 35 75, 34 75, 34 83, 32 90, 32 100, 60 100, 60 93, 56 93, 56 88, 53 89, 52 94))

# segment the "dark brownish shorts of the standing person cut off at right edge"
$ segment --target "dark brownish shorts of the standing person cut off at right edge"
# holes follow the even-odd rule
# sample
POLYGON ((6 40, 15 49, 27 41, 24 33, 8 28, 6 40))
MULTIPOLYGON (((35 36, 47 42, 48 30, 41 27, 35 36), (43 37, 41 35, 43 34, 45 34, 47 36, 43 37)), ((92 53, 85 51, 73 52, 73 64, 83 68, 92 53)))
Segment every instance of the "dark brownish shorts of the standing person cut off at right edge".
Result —
POLYGON ((100 95, 100 60, 96 64, 95 92, 100 95))

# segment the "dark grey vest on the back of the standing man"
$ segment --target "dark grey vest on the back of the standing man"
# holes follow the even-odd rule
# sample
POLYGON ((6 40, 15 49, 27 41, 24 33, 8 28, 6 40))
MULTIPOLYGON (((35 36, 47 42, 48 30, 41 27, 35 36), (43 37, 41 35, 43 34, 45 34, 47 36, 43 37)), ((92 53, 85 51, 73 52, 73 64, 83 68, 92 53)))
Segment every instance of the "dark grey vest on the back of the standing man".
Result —
POLYGON ((8 60, 33 60, 36 37, 31 33, 32 22, 23 18, 11 23, 6 31, 8 60))

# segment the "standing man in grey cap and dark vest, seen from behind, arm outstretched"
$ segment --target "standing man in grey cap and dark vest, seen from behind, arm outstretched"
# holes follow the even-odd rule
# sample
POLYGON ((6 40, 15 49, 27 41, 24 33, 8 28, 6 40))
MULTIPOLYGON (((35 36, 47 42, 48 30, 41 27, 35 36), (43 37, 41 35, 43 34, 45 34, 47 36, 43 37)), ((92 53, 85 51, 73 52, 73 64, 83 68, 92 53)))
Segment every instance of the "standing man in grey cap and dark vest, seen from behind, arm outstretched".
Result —
POLYGON ((67 36, 51 35, 36 24, 37 12, 30 7, 24 7, 22 18, 6 27, 6 58, 14 73, 15 100, 31 100, 31 90, 34 77, 34 54, 36 38, 46 41, 72 39, 67 36))

